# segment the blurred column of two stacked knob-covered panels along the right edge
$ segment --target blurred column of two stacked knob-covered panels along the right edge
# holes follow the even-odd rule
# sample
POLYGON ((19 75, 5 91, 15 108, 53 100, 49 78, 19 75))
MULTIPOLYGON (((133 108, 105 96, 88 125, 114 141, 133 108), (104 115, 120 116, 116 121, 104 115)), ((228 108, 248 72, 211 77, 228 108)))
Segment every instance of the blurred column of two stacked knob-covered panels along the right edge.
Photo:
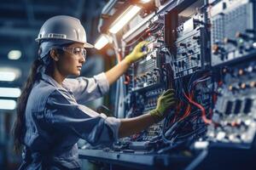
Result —
MULTIPOLYGON (((209 7, 216 103, 207 138, 247 144, 255 136, 255 1, 218 1, 209 7), (218 74, 220 72, 220 74, 218 74)), ((212 69, 213 70, 213 69, 212 69)))

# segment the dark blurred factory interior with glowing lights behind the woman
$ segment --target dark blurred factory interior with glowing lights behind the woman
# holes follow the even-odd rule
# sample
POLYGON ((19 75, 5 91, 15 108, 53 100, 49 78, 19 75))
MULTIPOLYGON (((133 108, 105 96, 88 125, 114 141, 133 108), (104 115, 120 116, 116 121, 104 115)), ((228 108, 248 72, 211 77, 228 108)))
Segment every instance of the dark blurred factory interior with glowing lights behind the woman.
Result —
MULTIPOLYGON (((34 39, 45 20, 55 15, 70 15, 81 20, 88 42, 98 37, 97 25, 103 6, 108 0, 1 0, 0 2, 0 169, 17 169, 20 156, 13 151, 11 127, 15 121, 15 105, 29 73, 32 61, 38 56, 34 39)), ((89 51, 83 76, 95 75, 109 65, 95 49, 89 51)), ((113 55, 113 50, 107 51, 113 55)), ((111 64, 111 62, 107 62, 111 64)), ((109 103, 108 96, 105 103, 109 103)), ((89 105, 96 108, 102 99, 89 105)))

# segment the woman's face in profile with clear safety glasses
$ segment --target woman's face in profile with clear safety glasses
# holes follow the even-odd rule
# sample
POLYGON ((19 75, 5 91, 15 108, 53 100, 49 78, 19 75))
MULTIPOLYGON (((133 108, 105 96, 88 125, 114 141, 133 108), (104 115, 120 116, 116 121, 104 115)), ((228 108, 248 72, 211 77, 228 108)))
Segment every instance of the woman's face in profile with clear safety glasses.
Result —
POLYGON ((86 57, 83 55, 84 50, 84 44, 79 42, 75 42, 63 49, 63 54, 56 62, 61 75, 65 77, 68 75, 80 76, 86 57))

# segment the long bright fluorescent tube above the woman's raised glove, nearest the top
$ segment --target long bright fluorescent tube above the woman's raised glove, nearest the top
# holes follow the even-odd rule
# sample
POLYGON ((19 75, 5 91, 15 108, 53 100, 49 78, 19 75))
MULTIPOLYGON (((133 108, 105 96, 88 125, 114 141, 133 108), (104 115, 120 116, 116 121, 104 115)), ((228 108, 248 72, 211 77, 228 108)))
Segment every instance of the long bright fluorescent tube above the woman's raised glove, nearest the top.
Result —
POLYGON ((139 11, 140 7, 136 5, 131 5, 129 8, 125 10, 123 14, 119 16, 117 20, 113 22, 113 26, 109 29, 109 32, 115 34, 119 30, 121 30, 125 24, 127 24, 139 11))

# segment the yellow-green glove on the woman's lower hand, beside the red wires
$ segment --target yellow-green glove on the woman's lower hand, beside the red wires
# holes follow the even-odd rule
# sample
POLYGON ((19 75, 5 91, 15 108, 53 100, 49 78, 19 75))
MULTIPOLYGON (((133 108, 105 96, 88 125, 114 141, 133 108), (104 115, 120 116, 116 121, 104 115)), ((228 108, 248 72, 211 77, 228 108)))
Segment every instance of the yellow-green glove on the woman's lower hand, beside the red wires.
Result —
POLYGON ((160 122, 166 116, 166 111, 168 111, 176 103, 175 91, 173 89, 167 90, 165 93, 161 94, 157 99, 157 106, 149 114, 153 116, 154 122, 160 122))

